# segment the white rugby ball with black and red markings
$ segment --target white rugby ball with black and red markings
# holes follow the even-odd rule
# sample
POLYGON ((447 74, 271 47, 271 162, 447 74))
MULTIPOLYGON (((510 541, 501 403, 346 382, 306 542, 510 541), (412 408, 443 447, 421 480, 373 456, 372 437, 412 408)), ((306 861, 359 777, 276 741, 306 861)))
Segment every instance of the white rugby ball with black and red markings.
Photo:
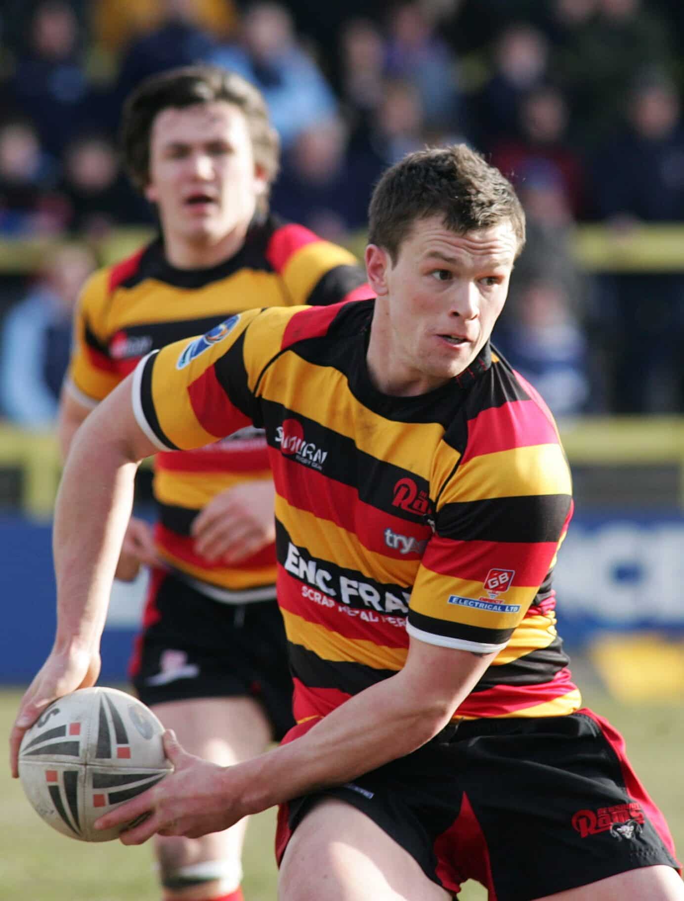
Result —
MULTIPOLYGON (((155 785, 172 768, 164 727, 141 701, 116 688, 79 688, 46 707, 24 734, 19 778, 36 812, 81 842, 110 842, 96 819, 155 785)), ((129 824, 130 825, 130 824, 129 824)))

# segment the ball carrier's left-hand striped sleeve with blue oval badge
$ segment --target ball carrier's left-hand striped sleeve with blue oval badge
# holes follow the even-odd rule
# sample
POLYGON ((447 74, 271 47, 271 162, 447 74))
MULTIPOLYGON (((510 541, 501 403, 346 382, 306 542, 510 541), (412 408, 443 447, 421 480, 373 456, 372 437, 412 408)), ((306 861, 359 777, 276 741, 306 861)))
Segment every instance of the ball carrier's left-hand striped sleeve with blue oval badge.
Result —
POLYGON ((249 310, 141 359, 132 405, 150 441, 161 451, 190 450, 260 425, 260 373, 278 354, 295 312, 249 310))

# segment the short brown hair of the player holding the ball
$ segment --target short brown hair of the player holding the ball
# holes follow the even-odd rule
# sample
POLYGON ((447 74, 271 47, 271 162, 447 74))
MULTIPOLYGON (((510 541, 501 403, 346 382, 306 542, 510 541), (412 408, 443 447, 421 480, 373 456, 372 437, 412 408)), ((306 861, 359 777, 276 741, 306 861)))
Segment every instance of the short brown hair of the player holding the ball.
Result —
POLYGON ((388 168, 369 205, 369 242, 396 262, 414 223, 441 215, 462 234, 509 221, 524 247, 524 211, 515 188, 466 144, 416 150, 388 168))

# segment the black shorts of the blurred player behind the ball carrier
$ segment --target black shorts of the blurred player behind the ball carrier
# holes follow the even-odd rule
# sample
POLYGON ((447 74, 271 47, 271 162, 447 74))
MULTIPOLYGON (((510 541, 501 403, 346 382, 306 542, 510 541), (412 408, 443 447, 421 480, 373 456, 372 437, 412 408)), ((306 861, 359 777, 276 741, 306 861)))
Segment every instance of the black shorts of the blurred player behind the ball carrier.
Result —
POLYGON ((292 678, 278 604, 224 604, 154 570, 129 666, 147 705, 199 697, 259 700, 280 739, 294 724, 292 678))

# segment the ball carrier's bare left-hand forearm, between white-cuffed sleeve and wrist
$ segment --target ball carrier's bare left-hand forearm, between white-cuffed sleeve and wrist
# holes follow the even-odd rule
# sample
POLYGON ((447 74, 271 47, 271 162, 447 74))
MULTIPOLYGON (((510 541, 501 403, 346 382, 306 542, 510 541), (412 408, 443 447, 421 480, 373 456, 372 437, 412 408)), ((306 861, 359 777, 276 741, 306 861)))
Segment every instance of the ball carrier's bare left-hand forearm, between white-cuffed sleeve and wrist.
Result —
POLYGON ((123 444, 93 440, 93 431, 74 441, 55 509, 58 651, 97 646, 132 509, 137 464, 123 444))

